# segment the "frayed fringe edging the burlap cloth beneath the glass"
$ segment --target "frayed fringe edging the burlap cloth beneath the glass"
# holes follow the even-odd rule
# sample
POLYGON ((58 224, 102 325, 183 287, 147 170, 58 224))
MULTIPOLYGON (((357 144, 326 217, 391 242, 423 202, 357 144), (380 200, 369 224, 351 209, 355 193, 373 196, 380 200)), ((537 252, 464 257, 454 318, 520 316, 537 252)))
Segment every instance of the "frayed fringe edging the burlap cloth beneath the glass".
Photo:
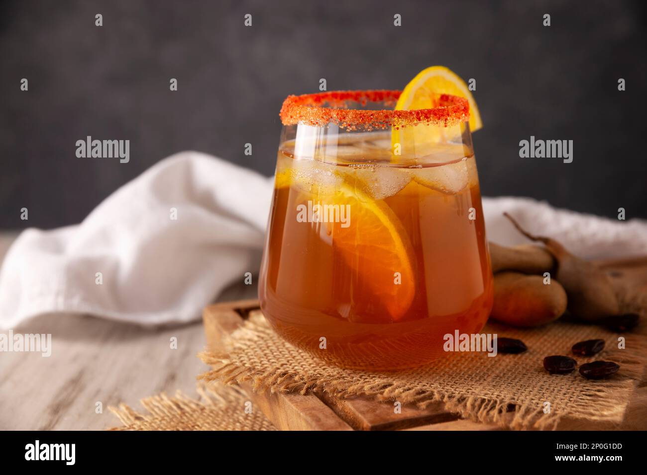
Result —
MULTIPOLYGON (((628 291, 618 295, 623 311, 637 312, 644 321, 647 315, 647 299, 644 294, 635 294, 628 291)), ((643 323, 644 324, 644 323, 643 323)), ((238 332, 249 331, 248 326, 253 326, 254 321, 245 322, 238 332)), ((614 361, 622 366, 622 374, 633 379, 629 384, 623 381, 605 381, 601 387, 597 381, 591 381, 582 392, 584 401, 595 400, 604 403, 606 396, 616 390, 635 390, 637 381, 642 379, 645 365, 647 364, 647 342, 645 339, 627 337, 627 348, 622 354, 614 355, 614 361)), ((323 391, 336 397, 348 398, 355 396, 373 397, 377 401, 397 400, 403 404, 414 404, 424 409, 434 402, 444 403, 448 412, 457 413, 465 419, 481 423, 493 423, 501 427, 513 429, 555 430, 564 417, 573 417, 573 414, 549 412, 544 414, 543 408, 530 405, 514 405, 512 401, 501 401, 487 397, 450 395, 440 390, 421 390, 411 383, 398 383, 393 379, 376 377, 371 383, 347 383, 339 381, 333 376, 309 377, 296 371, 286 371, 281 366, 275 366, 267 371, 254 370, 247 366, 235 364, 225 352, 212 352, 205 350, 198 355, 202 361, 212 367, 212 370, 201 374, 198 379, 204 381, 221 381, 226 385, 250 383, 254 392, 269 391, 298 392, 305 395, 308 392, 323 391)), ((609 409, 613 403, 609 402, 609 409)), ((623 414, 616 417, 600 416, 597 412, 578 414, 577 419, 589 421, 612 421, 620 423, 623 414)))

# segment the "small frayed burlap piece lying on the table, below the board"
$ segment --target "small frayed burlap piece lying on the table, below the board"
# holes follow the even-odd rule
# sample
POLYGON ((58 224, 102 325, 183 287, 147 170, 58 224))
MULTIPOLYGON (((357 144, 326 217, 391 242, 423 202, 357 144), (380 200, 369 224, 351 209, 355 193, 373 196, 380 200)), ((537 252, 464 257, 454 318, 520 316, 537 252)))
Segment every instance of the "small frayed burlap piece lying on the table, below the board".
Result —
POLYGON ((146 413, 124 403, 109 406, 123 426, 108 430, 276 430, 263 414, 244 412, 248 397, 240 388, 198 383, 196 390, 199 400, 181 391, 146 397, 140 401, 146 413))

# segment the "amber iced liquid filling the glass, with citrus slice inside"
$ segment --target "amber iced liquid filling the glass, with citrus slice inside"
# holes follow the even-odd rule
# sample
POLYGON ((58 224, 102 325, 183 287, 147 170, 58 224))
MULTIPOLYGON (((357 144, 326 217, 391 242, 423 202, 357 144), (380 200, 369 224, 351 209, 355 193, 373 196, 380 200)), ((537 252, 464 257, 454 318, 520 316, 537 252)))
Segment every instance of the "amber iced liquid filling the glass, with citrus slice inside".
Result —
MULTIPOLYGON (((413 179, 398 174, 392 186, 372 195, 370 168, 354 174, 348 165, 316 164, 304 184, 303 173, 285 173, 302 162, 279 153, 259 285, 261 309, 276 332, 327 363, 395 370, 446 356, 447 333, 483 328, 492 307, 492 271, 473 156, 402 171, 413 179), (454 180, 456 167, 466 173, 461 189, 465 178, 454 180), (452 183, 450 189, 442 182, 429 186, 425 173, 449 176, 455 189, 452 183), (341 184, 329 185, 343 193, 318 186, 316 180, 331 176, 341 184), (347 204, 349 226, 298 220, 308 202, 347 204), (377 238, 386 241, 384 248, 367 247, 377 238), (399 271, 406 281, 397 283, 399 271)), ((390 171, 380 173, 378 187, 390 178, 390 171)))

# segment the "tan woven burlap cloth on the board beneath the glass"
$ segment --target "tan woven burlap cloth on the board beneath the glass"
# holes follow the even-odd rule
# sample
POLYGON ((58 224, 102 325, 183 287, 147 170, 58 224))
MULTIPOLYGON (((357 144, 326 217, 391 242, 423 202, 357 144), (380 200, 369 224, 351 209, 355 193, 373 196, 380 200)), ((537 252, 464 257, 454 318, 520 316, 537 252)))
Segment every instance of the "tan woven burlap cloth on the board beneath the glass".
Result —
MULTIPOLYGON (((639 304, 624 302, 624 310, 641 311, 644 327, 644 295, 640 298, 639 304)), ((286 343, 260 311, 252 311, 243 326, 226 339, 225 352, 206 350, 200 355, 213 368, 200 377, 226 384, 249 381, 256 391, 326 391, 338 397, 364 395, 421 408, 432 401, 443 401, 448 411, 472 420, 516 429, 554 429, 564 417, 622 421, 647 363, 647 339, 641 330, 622 335, 625 349, 618 348, 617 333, 566 321, 527 330, 488 323, 483 332, 521 339, 528 350, 496 357, 454 353, 428 366, 395 374, 343 370, 326 366, 286 343), (600 354, 571 354, 574 343, 597 338, 606 341, 600 354), (585 379, 577 370, 567 375, 548 374, 542 366, 543 358, 560 354, 574 357, 578 364, 597 359, 615 361, 620 371, 598 381, 585 379), (545 402, 550 403, 550 412, 545 412, 545 402)))

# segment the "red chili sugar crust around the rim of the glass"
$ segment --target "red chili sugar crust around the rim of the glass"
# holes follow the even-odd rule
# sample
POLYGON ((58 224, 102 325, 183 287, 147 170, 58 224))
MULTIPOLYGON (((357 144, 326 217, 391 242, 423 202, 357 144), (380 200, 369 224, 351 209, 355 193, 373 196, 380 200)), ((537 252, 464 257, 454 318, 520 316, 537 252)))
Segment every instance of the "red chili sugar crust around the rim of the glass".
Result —
POLYGON ((384 103, 385 107, 395 107, 400 90, 332 90, 318 94, 287 96, 281 107, 283 125, 305 123, 324 127, 334 123, 342 129, 388 129, 408 127, 420 123, 448 127, 470 118, 470 105, 465 98, 450 94, 439 94, 434 98, 436 107, 415 111, 394 111, 386 109, 373 111, 367 109, 348 109, 349 102, 366 105, 369 102, 384 103))

